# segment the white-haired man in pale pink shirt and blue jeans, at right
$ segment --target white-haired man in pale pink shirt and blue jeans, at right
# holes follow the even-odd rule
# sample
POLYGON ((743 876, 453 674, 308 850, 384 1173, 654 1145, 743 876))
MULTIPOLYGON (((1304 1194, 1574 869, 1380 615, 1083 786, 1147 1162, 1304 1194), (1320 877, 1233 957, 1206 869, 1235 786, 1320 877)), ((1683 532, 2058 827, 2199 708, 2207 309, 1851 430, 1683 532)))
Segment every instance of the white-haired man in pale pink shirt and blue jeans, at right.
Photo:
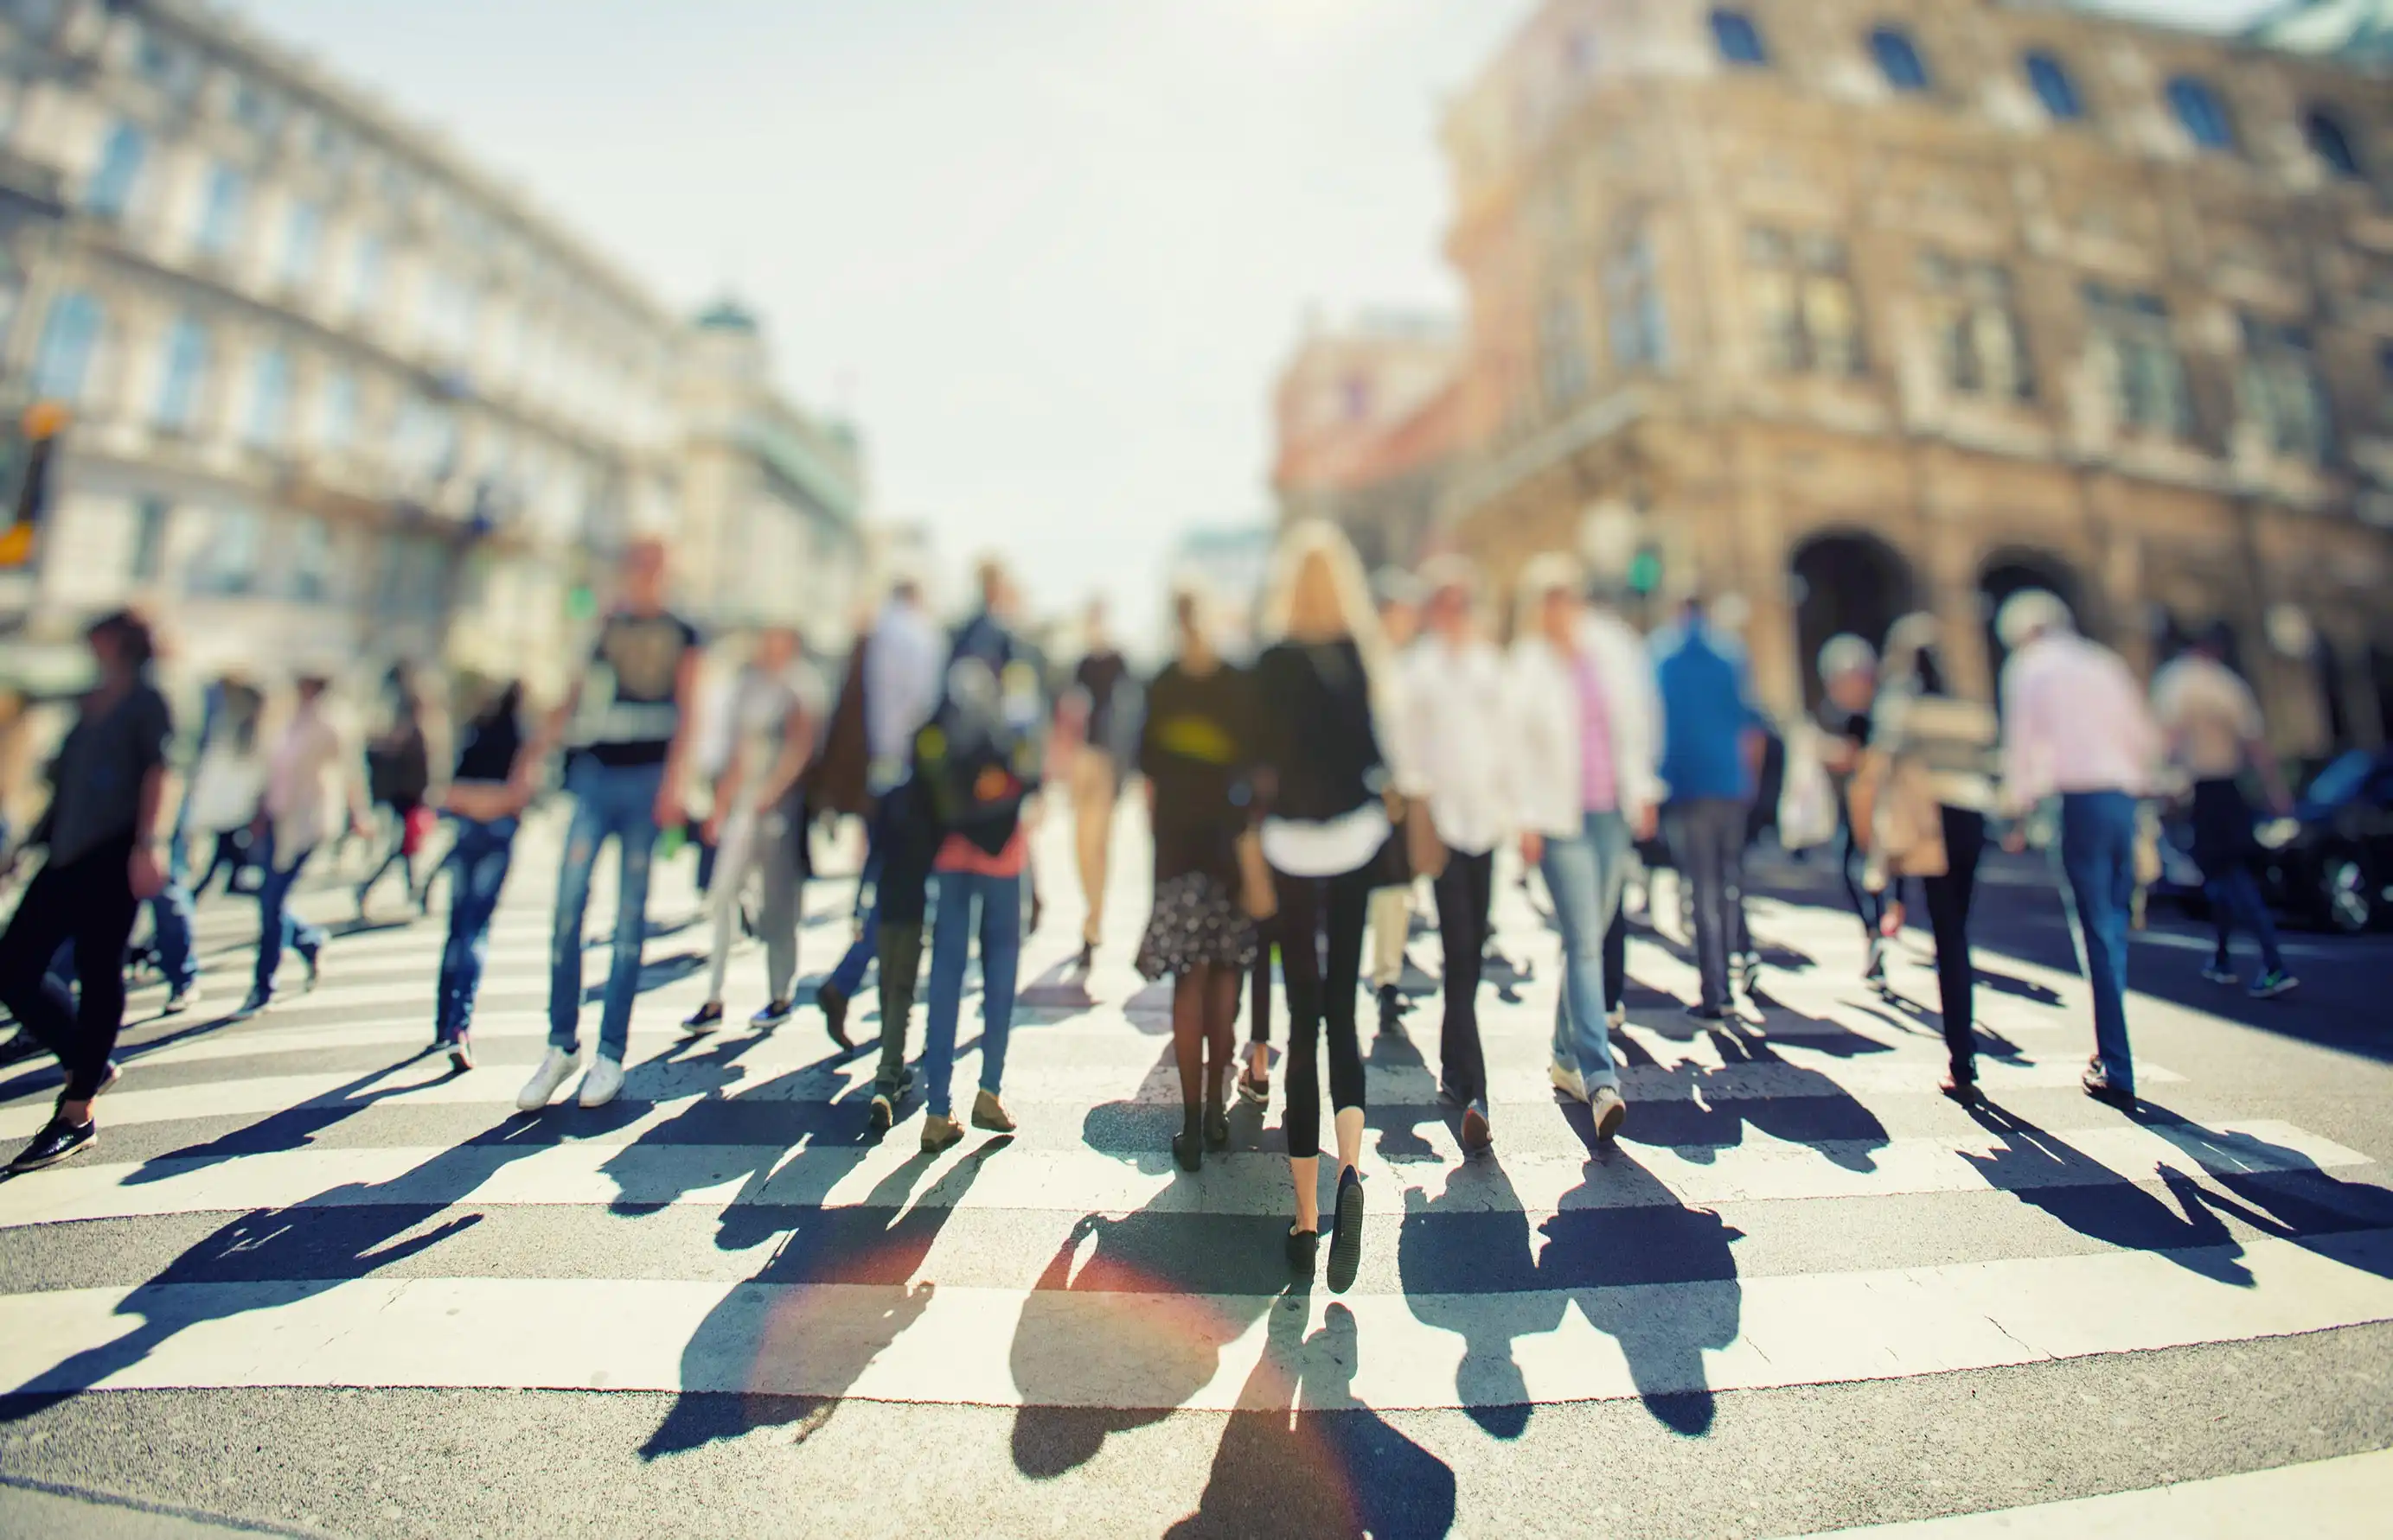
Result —
POLYGON ((2060 870, 2077 909, 2094 990, 2094 1062, 2084 1090, 2135 1100, 2127 1047, 2127 911, 2135 811, 2151 789, 2161 732, 2125 660, 2077 634, 2068 605, 2015 593, 1996 617, 2003 665, 2003 796, 2013 813, 2060 799, 2060 870))

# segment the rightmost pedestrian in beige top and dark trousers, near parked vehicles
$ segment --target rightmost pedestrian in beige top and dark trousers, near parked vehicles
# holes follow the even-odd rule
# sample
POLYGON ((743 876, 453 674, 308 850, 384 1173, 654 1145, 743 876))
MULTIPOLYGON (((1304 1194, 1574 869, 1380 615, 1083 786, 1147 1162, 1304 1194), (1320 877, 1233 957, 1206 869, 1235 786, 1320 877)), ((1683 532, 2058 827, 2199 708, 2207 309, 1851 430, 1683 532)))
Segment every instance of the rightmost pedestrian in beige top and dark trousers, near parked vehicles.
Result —
POLYGON ((2151 682, 2151 710, 2168 737, 2168 758, 2192 782, 2194 866, 2202 868, 2211 899, 2211 925, 2218 949, 2204 978, 2218 985, 2237 983, 2228 940, 2235 925, 2259 942, 2261 971, 2252 980, 2254 1000, 2292 992, 2300 980, 2285 971, 2276 945, 2269 904, 2259 894, 2252 861, 2252 803, 2242 792, 2245 765, 2259 777, 2273 813, 2292 811, 2292 796, 2269 753, 2259 701, 2252 686, 2225 665, 2225 634, 2214 629, 2178 653, 2151 682))

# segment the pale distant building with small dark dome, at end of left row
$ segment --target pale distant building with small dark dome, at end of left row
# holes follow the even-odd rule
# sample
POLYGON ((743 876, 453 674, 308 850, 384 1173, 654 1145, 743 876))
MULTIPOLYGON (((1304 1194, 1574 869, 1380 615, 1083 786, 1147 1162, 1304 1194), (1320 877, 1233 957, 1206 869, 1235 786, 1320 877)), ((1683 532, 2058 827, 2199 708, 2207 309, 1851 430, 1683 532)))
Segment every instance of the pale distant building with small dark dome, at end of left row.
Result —
POLYGON ((773 387, 759 320, 704 311, 682 347, 677 576, 716 624, 790 624, 840 650, 864 600, 864 457, 854 428, 773 387))

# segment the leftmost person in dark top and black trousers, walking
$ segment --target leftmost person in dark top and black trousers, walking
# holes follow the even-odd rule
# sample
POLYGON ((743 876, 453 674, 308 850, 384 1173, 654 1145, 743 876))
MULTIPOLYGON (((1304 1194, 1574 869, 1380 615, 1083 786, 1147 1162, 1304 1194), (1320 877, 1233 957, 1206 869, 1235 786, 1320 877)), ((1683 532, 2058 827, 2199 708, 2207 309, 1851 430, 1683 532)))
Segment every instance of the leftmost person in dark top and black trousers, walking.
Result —
POLYGON ((10 1172, 57 1165, 98 1138, 91 1100, 117 1078, 110 1055, 124 1021, 124 937, 165 887, 160 803, 175 722, 148 677, 151 631, 117 612, 86 638, 101 682, 50 763, 50 811, 26 835, 48 861, 0 935, 0 1004, 57 1055, 67 1088, 10 1172), (50 976, 50 957, 69 940, 77 992, 50 976))

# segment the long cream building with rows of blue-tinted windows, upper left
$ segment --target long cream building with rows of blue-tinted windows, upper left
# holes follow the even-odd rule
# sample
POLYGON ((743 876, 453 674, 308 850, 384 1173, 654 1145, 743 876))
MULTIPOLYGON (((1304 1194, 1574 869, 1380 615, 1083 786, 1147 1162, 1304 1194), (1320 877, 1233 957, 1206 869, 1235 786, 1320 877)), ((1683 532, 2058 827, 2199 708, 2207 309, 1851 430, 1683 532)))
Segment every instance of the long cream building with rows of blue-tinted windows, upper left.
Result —
POLYGON ((10 395, 72 414, 0 579, 31 631, 141 600, 191 672, 541 686, 574 593, 672 519, 680 323, 220 10, 0 5, 0 160, 62 206, 0 332, 10 395))

